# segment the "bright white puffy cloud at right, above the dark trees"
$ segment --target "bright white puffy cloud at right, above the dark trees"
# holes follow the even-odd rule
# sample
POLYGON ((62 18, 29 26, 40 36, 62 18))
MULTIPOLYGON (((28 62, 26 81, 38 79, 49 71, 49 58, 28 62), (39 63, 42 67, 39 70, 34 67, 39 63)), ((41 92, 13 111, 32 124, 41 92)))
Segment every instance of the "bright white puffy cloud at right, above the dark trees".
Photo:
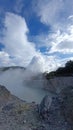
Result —
POLYGON ((59 29, 55 29, 48 35, 38 37, 41 40, 39 48, 42 46, 46 47, 45 54, 73 54, 73 17, 69 16, 65 27, 61 26, 59 29), (43 37, 43 38, 42 38, 43 37), (44 39, 42 41, 42 39, 44 39))

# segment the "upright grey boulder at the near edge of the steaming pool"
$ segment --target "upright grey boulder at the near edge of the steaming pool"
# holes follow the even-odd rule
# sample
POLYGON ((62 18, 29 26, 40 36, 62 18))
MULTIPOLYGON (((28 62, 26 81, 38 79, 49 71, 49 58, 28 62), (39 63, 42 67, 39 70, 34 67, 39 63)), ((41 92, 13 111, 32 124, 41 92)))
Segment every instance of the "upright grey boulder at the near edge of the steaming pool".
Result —
POLYGON ((60 100, 58 96, 45 96, 39 106, 39 114, 43 119, 49 119, 50 116, 56 118, 60 113, 60 100))

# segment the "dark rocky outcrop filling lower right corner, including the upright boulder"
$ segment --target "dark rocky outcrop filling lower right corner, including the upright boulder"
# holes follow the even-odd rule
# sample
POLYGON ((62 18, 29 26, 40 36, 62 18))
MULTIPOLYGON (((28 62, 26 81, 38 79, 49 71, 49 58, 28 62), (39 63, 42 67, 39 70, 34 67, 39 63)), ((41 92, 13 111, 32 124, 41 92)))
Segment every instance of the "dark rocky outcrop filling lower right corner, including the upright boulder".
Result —
POLYGON ((39 105, 39 114, 54 129, 73 130, 73 87, 66 87, 53 97, 45 96, 39 105))

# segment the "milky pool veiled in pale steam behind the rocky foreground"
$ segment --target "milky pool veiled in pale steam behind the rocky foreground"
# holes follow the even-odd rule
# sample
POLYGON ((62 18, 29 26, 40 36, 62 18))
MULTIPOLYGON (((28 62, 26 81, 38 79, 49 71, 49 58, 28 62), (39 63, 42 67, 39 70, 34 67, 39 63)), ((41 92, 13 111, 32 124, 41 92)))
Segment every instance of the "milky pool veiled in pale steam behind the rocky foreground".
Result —
POLYGON ((45 80, 42 76, 32 75, 27 69, 8 69, 0 73, 0 84, 4 85, 13 95, 28 102, 39 103, 46 95, 43 89, 45 80))

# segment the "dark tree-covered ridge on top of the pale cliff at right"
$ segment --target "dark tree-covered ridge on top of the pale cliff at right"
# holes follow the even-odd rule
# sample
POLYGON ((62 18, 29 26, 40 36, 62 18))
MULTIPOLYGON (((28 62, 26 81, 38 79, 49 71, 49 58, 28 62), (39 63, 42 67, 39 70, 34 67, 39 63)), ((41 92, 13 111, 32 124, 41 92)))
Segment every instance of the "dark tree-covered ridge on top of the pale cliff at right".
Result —
POLYGON ((47 79, 63 76, 73 76, 73 61, 70 60, 65 64, 65 67, 60 67, 56 71, 46 74, 47 79))

